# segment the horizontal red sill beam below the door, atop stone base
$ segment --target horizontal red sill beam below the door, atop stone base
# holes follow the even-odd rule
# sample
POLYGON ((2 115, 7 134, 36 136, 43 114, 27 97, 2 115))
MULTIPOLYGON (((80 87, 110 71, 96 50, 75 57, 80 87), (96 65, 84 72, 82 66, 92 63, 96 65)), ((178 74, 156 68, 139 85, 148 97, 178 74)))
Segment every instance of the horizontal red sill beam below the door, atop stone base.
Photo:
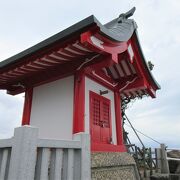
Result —
POLYGON ((93 152, 127 152, 124 145, 91 143, 93 152))

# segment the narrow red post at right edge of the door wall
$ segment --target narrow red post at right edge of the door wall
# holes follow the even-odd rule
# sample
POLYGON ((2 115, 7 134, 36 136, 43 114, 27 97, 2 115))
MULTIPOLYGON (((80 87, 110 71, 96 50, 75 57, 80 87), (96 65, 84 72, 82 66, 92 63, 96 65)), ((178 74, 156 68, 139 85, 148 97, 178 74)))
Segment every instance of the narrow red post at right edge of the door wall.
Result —
POLYGON ((118 91, 114 92, 115 117, 116 117, 116 136, 117 145, 123 145, 123 126, 121 115, 121 97, 118 91))

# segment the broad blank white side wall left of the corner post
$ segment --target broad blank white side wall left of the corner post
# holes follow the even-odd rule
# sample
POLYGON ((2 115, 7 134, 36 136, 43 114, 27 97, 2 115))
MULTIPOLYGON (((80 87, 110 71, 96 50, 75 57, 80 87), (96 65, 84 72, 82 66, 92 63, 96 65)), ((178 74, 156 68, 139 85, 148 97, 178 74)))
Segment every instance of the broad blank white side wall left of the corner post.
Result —
POLYGON ((30 125, 40 138, 72 139, 73 92, 73 76, 34 88, 30 125))

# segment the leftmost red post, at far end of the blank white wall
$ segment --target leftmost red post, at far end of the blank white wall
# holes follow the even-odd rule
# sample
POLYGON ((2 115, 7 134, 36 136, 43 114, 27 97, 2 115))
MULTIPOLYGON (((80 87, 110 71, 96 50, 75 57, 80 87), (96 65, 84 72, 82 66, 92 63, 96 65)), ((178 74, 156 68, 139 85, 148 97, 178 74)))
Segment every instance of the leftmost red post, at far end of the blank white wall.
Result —
POLYGON ((32 96, 33 96, 33 89, 31 88, 31 89, 26 90, 25 99, 24 99, 24 110, 23 110, 23 117, 22 117, 22 126, 30 124, 32 96))

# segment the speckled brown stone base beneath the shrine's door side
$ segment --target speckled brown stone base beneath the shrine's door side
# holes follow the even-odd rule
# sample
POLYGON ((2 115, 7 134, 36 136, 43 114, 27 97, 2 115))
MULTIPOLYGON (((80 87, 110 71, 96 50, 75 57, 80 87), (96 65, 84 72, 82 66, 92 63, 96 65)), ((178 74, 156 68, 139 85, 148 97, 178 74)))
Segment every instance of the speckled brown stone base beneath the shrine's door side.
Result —
POLYGON ((94 152, 91 154, 92 180, 139 180, 134 159, 126 152, 94 152))

